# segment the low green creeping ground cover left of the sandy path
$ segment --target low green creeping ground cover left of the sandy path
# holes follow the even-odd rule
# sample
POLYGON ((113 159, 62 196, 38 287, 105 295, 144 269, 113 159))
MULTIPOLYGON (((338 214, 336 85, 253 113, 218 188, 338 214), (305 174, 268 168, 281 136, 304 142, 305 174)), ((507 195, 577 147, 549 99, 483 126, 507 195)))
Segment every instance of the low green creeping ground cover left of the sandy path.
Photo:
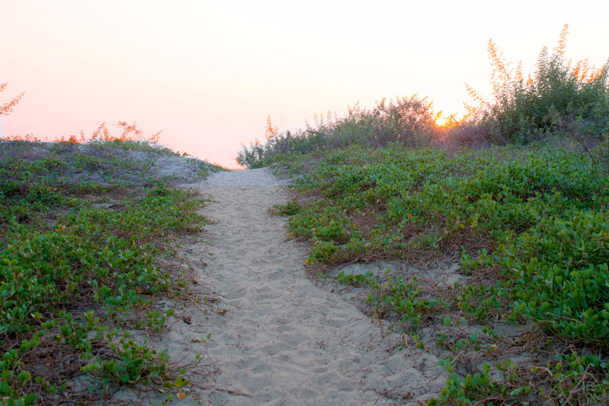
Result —
MULTIPOLYGON (((203 201, 155 170, 160 156, 179 155, 140 141, 0 141, 2 405, 89 404, 121 385, 171 397, 188 385, 185 366, 145 337, 175 311, 157 299, 189 294, 163 259, 203 229, 203 201)), ((214 169, 189 164, 191 177, 214 169)))

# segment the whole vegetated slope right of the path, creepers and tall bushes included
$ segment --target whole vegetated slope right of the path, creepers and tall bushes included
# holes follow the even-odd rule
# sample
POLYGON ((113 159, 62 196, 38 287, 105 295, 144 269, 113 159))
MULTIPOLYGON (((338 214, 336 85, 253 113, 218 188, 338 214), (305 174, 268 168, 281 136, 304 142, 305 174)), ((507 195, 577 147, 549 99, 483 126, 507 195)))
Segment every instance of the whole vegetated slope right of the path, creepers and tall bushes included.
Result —
POLYGON ((470 89, 458 122, 382 100, 291 133, 269 121, 239 152, 295 177, 276 211, 311 275, 364 289, 404 347, 440 358, 430 405, 609 400, 609 65, 572 63, 565 43, 566 27, 524 78, 489 41, 493 100, 470 89))

